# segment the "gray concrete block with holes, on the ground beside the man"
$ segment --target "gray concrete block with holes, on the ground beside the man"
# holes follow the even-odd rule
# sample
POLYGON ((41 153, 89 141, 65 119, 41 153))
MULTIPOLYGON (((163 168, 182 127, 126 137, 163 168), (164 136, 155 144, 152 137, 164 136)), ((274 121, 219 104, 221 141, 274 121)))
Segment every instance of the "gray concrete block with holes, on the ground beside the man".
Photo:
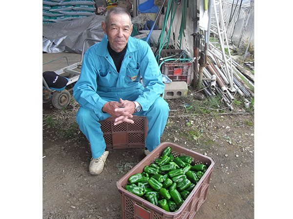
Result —
POLYGON ((176 99, 187 95, 187 83, 185 81, 173 81, 165 84, 164 99, 176 99))

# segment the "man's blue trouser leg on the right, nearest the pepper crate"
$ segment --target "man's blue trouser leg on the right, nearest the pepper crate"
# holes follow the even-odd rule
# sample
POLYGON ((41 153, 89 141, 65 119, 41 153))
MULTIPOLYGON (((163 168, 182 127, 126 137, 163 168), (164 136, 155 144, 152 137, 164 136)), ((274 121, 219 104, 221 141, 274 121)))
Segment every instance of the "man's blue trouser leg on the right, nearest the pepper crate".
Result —
POLYGON ((160 137, 167 123, 168 112, 167 102, 162 97, 159 97, 149 110, 134 113, 134 115, 146 116, 147 118, 146 148, 149 151, 160 145, 160 137))

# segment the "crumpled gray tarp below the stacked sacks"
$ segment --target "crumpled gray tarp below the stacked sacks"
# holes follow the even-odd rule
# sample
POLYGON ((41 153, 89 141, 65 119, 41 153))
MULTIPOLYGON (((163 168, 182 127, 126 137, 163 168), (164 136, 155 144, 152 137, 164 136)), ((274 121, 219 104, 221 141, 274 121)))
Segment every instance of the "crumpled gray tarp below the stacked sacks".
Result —
MULTIPOLYGON (((45 53, 77 53, 81 54, 85 38, 102 40, 105 36, 102 21, 105 16, 94 15, 76 20, 43 24, 42 51, 45 53)), ((96 42, 88 41, 85 49, 96 42)))

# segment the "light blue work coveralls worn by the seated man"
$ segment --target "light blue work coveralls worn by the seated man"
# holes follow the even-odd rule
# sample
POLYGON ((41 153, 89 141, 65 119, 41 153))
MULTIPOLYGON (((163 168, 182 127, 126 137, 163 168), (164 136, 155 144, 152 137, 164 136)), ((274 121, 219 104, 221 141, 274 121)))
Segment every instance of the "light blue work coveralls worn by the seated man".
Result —
POLYGON ((167 123, 169 107, 160 97, 165 85, 155 56, 149 45, 129 37, 120 72, 107 50, 107 36, 91 46, 84 54, 81 74, 73 88, 73 96, 81 105, 76 121, 88 139, 93 158, 100 157, 106 148, 101 124, 110 115, 102 111, 108 101, 119 98, 137 101, 142 106, 138 116, 146 116, 148 131, 146 148, 152 151, 160 144, 167 123), (144 86, 139 82, 140 75, 144 86))

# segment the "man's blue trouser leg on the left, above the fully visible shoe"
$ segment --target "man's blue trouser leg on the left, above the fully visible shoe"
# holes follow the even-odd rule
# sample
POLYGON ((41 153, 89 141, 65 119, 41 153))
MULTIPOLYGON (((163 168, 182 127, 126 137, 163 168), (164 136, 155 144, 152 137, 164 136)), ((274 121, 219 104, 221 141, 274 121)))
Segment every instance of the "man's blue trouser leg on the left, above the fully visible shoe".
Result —
POLYGON ((81 131, 90 143, 93 158, 101 157, 106 149, 105 139, 99 121, 105 120, 110 115, 101 113, 99 117, 94 111, 80 107, 76 114, 76 121, 81 131))

